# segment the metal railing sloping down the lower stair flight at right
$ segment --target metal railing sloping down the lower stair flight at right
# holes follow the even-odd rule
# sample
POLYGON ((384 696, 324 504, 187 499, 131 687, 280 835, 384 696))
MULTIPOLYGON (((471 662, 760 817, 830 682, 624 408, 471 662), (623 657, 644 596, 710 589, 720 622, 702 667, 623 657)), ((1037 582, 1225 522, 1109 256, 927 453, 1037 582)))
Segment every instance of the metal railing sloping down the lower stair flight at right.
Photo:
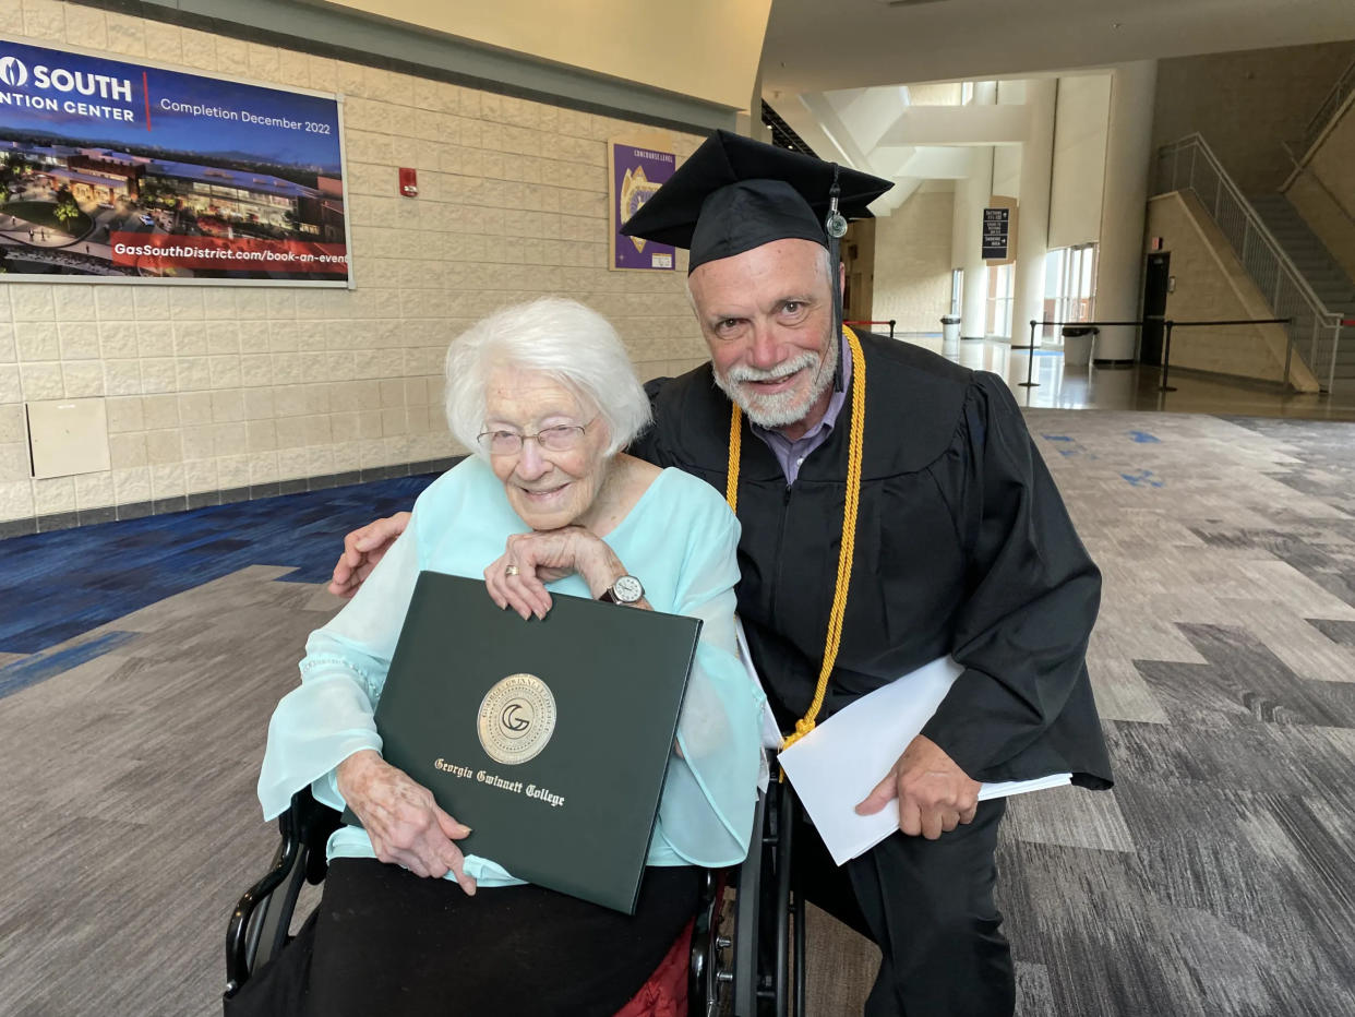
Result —
POLYGON ((1308 363, 1324 392, 1336 380, 1341 316, 1327 308, 1308 285, 1256 209, 1224 170, 1199 134, 1190 134, 1157 153, 1157 193, 1192 191, 1228 237, 1238 260, 1285 325, 1289 343, 1308 363), (1325 382, 1324 382, 1325 378, 1325 382))

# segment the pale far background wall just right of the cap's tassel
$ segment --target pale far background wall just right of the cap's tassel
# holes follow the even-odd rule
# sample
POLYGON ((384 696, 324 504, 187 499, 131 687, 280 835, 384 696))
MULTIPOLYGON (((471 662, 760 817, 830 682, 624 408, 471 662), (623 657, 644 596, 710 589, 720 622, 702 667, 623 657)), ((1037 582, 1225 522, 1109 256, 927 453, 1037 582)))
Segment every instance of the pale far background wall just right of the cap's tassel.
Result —
POLYGON ((920 190, 875 222, 873 319, 896 319, 898 332, 940 331, 950 311, 954 198, 920 190))

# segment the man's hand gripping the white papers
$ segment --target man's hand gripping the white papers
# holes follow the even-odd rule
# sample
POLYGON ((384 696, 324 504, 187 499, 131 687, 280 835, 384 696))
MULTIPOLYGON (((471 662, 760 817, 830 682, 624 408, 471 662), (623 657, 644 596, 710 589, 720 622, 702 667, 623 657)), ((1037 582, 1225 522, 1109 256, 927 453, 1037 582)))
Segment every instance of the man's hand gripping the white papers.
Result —
POLYGON ((897 797, 898 829, 909 837, 921 834, 935 841, 942 833, 973 822, 978 788, 978 781, 970 780, 939 744, 917 735, 885 780, 856 805, 856 814, 874 815, 897 797))

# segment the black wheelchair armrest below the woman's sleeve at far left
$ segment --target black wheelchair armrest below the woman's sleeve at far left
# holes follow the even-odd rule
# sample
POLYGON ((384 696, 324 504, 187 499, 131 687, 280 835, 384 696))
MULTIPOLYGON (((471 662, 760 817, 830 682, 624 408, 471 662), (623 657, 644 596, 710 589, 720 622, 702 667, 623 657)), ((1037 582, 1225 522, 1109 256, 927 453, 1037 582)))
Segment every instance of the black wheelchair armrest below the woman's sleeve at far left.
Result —
POLYGON ((297 904, 302 877, 317 884, 325 877, 325 842, 343 824, 340 815, 316 801, 310 788, 291 796, 291 805, 278 816, 282 842, 268 872, 244 892, 226 928, 226 997, 234 995, 253 974, 262 944, 270 960, 286 942, 291 911, 297 904), (286 883, 283 899, 274 900, 286 883), (272 936, 263 936, 263 926, 272 936))

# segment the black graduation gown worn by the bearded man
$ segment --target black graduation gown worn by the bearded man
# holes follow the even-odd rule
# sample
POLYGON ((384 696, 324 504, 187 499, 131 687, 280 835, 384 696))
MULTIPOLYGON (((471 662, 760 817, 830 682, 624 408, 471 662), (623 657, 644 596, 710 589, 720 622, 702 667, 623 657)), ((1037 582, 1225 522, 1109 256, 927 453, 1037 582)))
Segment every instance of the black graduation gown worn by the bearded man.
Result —
MULTIPOLYGON (((1100 572, 1007 385, 908 343, 860 334, 866 437, 851 591, 820 720, 950 654, 963 666, 923 730, 970 777, 1072 772, 1108 788, 1087 677, 1100 572)), ((650 385, 654 426, 631 453, 725 491, 729 400, 706 363, 650 385)), ((744 420, 738 613, 789 730, 822 664, 846 500, 848 399, 790 487, 744 420)))

